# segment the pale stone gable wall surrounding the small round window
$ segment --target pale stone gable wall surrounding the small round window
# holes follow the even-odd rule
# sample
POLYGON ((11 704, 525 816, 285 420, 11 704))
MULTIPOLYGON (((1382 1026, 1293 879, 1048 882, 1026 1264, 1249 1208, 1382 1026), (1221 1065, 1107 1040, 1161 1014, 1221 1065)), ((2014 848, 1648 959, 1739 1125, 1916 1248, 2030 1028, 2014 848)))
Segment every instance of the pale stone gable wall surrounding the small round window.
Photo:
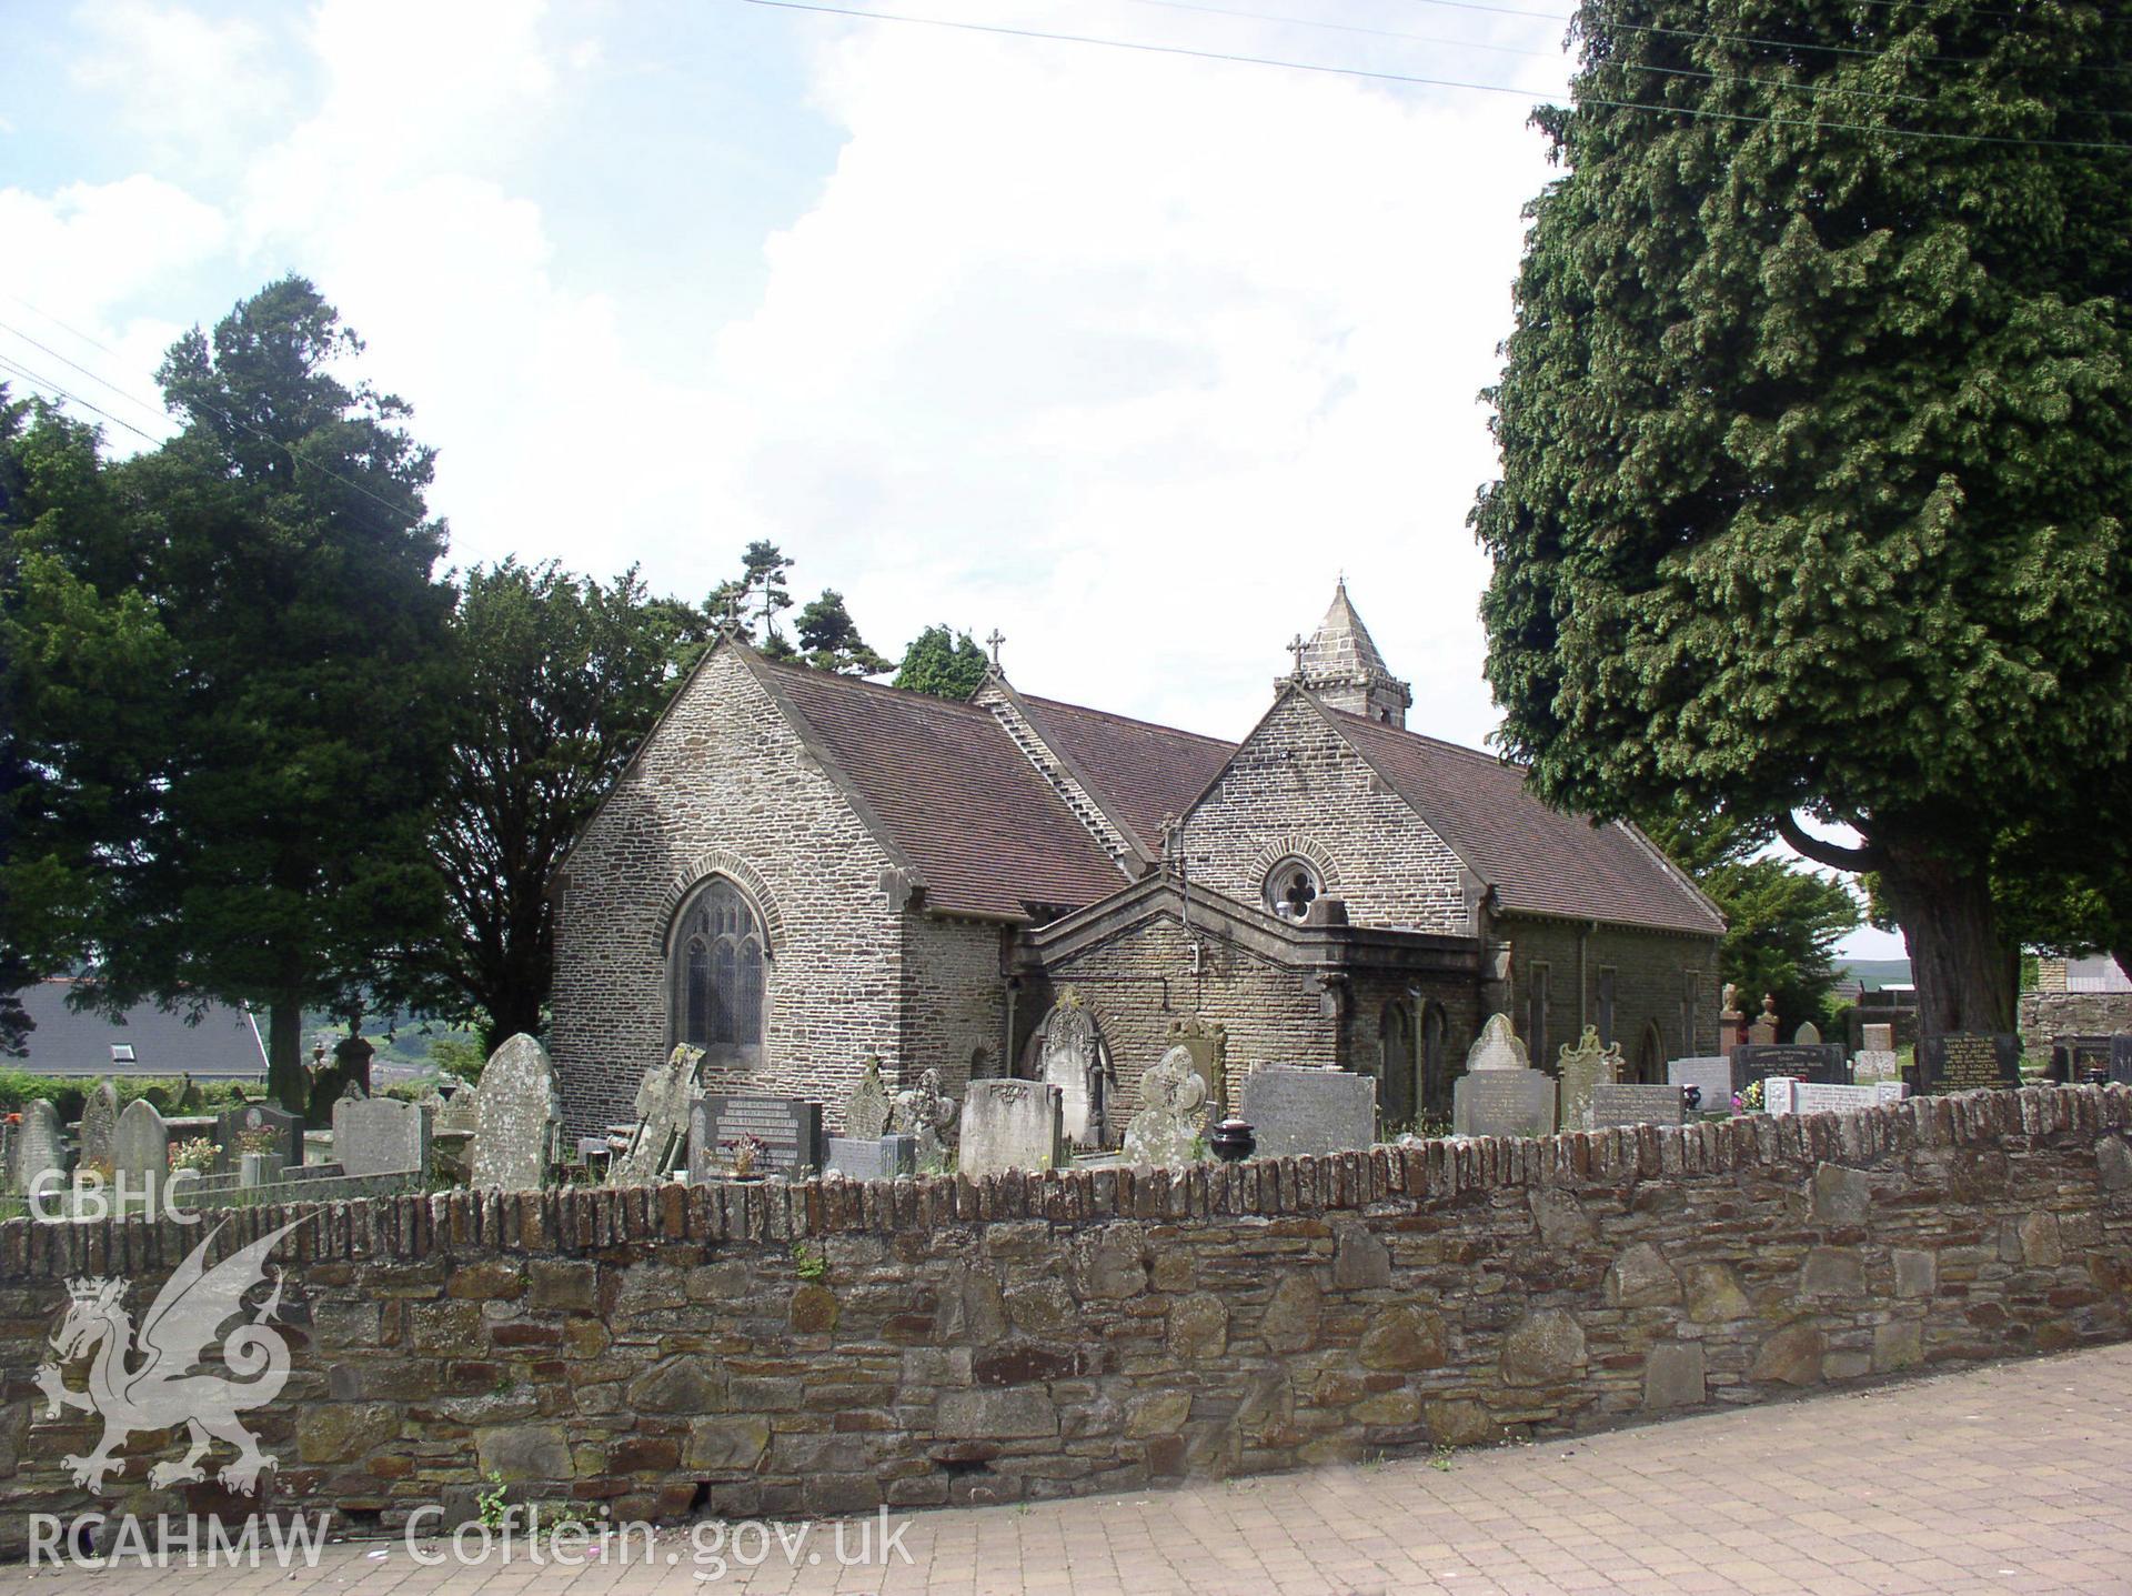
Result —
POLYGON ((1185 817, 1183 841, 1194 879, 1239 903, 1262 903, 1266 868, 1298 851, 1324 860, 1326 896, 1358 926, 1473 930, 1458 856, 1294 693, 1185 817))

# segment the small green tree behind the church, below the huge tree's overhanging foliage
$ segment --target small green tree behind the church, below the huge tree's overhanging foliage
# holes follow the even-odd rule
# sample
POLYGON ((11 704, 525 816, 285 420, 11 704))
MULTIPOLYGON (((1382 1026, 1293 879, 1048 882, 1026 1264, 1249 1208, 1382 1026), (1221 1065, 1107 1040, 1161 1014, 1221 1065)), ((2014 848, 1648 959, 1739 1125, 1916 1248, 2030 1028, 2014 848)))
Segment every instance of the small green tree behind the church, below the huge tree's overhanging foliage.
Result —
POLYGON ((1674 809, 1640 824, 1725 913, 1718 971, 1746 1007, 1770 994, 1787 1024, 1812 1020, 1827 1028, 1836 945, 1863 922, 1851 890, 1772 853, 1770 828, 1731 815, 1674 809))

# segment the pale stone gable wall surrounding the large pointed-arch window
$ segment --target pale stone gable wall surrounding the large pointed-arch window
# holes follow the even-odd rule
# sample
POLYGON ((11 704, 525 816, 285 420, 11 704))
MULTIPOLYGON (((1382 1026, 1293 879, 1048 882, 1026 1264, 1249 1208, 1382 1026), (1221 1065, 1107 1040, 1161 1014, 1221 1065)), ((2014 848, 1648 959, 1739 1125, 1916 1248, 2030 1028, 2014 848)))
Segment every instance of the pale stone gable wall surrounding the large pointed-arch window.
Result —
POLYGON ((889 858, 733 651, 710 657, 584 830, 556 913, 552 1054, 574 1131, 631 1118, 672 1046, 665 935, 687 888, 725 873, 770 922, 765 1065, 712 1090, 834 1107, 866 1054, 902 1067, 902 913, 889 858), (716 789, 716 802, 697 800, 716 789))

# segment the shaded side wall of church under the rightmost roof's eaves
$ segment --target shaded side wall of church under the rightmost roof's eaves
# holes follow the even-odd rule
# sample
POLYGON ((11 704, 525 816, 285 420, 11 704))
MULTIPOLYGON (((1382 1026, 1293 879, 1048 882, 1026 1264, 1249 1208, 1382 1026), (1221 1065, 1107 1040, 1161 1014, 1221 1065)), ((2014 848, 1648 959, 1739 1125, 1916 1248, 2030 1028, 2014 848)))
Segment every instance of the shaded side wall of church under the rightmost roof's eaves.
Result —
POLYGON ((1533 1048, 1529 992, 1533 967, 1548 967, 1548 1035, 1546 1048, 1533 1052, 1533 1063, 1554 1069, 1556 1052, 1576 1046, 1582 1026, 1599 1024, 1599 971, 1614 971, 1614 1041, 1622 1058, 1637 1060, 1644 1026, 1657 1022, 1665 1043, 1659 1058, 1659 1080, 1665 1080, 1665 1058, 1693 1058, 1718 1050, 1718 939, 1682 937, 1663 930, 1627 926, 1586 928, 1580 922, 1499 915, 1495 935, 1512 945, 1512 1001, 1505 1009, 1518 1039, 1533 1048), (1582 941, 1582 994, 1578 990, 1582 941), (1686 1035, 1686 975, 1695 973, 1695 1035, 1686 1035), (1541 1052, 1546 1056, 1541 1056, 1541 1052))

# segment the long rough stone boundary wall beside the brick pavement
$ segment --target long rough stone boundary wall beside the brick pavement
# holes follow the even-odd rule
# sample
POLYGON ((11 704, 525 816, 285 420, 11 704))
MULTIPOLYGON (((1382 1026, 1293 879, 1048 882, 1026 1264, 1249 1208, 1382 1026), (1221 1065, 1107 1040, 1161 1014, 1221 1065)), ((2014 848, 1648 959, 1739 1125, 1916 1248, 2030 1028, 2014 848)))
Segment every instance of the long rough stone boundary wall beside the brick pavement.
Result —
MULTIPOLYGON (((802 1515, 1571 1434, 2123 1340, 2128 1122, 2132 1088, 2025 1088, 1190 1174, 337 1203, 284 1248, 294 1372, 245 1421, 269 1506, 386 1528, 490 1470, 618 1519, 802 1515)), ((139 1314, 196 1240, 0 1225, 0 1536, 226 1500, 151 1491, 158 1436, 92 1502, 60 1459, 96 1421, 32 1417, 66 1280, 124 1274, 139 1314)))

